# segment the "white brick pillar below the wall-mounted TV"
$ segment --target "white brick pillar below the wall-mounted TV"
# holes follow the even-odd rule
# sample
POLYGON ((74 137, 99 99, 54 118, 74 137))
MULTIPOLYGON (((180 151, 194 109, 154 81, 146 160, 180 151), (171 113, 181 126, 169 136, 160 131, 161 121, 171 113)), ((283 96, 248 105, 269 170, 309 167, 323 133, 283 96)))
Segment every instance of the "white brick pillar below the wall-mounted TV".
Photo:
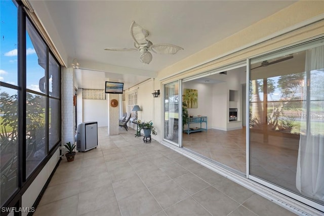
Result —
POLYGON ((119 95, 118 94, 107 94, 108 98, 108 135, 118 135, 119 134, 119 95), (110 100, 116 99, 118 101, 118 106, 111 107, 110 100))

